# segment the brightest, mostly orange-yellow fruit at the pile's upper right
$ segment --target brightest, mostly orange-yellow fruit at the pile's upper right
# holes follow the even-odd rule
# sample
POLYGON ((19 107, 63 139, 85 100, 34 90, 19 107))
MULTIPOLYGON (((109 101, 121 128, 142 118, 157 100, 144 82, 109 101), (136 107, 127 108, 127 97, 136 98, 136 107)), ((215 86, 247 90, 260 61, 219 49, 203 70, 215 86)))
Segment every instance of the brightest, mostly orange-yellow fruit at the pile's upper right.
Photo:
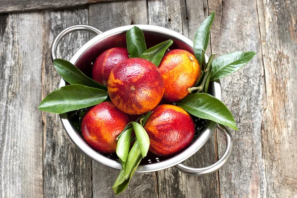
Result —
POLYGON ((163 99, 168 102, 177 102, 185 98, 201 75, 201 69, 195 56, 183 49, 167 51, 159 65, 165 82, 163 99))

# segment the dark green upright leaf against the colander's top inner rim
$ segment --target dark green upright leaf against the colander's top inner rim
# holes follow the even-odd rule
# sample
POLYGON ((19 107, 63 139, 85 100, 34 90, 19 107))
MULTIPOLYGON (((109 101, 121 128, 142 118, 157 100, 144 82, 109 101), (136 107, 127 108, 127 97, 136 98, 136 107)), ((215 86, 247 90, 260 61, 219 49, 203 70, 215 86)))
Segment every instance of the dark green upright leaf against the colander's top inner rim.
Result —
POLYGON ((126 40, 130 58, 138 58, 147 50, 144 33, 137 26, 127 31, 126 40))

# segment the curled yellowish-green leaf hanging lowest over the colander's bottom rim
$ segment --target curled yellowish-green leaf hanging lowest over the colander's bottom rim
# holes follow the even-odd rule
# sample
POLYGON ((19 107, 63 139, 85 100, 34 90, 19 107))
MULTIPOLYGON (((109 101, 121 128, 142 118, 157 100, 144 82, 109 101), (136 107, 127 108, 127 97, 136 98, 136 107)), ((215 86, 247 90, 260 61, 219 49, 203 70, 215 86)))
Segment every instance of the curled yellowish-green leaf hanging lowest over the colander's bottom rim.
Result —
POLYGON ((142 159, 142 154, 141 154, 140 145, 138 140, 136 140, 128 154, 125 168, 121 169, 112 187, 115 195, 119 195, 127 188, 128 183, 131 180, 135 170, 137 169, 141 159, 142 159))

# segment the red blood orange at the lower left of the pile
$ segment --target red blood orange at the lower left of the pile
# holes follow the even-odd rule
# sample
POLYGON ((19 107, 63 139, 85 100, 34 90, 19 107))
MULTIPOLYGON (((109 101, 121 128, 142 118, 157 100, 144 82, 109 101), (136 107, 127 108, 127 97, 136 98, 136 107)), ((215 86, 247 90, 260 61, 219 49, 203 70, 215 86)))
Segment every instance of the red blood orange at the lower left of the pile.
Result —
POLYGON ((127 114, 112 102, 102 102, 89 109, 82 119, 81 130, 86 142, 95 150, 113 153, 117 136, 130 122, 127 114))

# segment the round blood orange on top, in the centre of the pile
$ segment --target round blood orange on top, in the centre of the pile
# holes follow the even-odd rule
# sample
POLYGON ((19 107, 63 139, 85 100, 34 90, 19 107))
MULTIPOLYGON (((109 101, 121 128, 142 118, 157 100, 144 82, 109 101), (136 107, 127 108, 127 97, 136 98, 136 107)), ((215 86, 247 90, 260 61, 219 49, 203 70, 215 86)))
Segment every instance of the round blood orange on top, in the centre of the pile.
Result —
POLYGON ((129 58, 117 64, 109 75, 108 95, 125 113, 140 115, 153 109, 164 94, 159 69, 143 58, 129 58))

